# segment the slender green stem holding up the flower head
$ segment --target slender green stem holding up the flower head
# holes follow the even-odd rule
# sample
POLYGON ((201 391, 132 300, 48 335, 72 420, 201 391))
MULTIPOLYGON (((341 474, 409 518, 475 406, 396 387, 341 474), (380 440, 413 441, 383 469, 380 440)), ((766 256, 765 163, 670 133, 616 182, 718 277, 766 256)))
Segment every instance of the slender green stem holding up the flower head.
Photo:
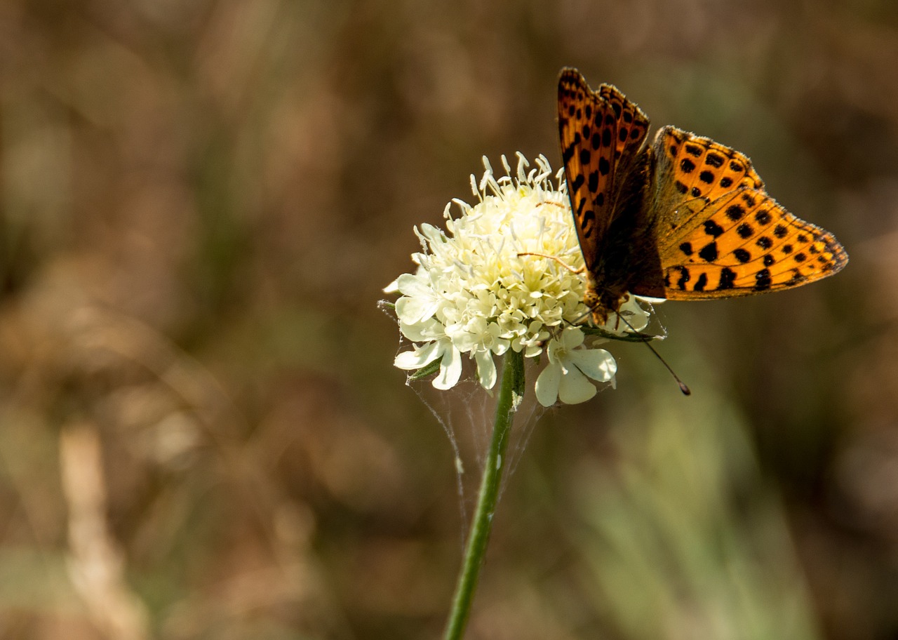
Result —
POLYGON ((480 495, 477 498, 477 509, 471 521, 471 533, 468 545, 464 550, 462 572, 455 586, 452 610, 446 622, 444 640, 461 640, 464 628, 471 616, 471 602, 480 578, 480 567, 487 553, 489 532, 493 526, 493 513, 502 480, 502 468, 506 462, 505 452, 508 447, 508 433, 511 431, 515 415, 516 400, 524 393, 524 356, 515 351, 506 351, 503 358, 502 386, 496 404, 496 422, 493 425, 493 438, 489 443, 489 453, 483 465, 483 478, 480 480, 480 495))

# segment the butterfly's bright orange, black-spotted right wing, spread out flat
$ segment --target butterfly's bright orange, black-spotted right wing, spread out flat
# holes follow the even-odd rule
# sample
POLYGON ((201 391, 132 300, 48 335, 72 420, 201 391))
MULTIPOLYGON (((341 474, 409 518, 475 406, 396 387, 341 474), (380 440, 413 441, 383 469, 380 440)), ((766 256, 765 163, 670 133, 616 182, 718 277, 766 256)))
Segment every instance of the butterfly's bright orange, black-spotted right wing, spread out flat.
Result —
POLYGON ((770 198, 738 151, 674 127, 658 131, 652 148, 650 206, 656 210, 665 298, 788 289, 848 263, 832 234, 770 198))

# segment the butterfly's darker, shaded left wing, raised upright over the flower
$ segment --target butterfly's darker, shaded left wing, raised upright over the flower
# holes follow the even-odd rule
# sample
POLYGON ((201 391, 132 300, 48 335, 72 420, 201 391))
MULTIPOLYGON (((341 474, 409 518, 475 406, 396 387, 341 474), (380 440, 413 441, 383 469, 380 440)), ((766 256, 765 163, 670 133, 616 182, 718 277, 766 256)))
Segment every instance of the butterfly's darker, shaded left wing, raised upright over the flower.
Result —
POLYGON ((559 77, 559 140, 586 269, 600 269, 603 246, 648 118, 611 84, 592 91, 576 69, 559 77))

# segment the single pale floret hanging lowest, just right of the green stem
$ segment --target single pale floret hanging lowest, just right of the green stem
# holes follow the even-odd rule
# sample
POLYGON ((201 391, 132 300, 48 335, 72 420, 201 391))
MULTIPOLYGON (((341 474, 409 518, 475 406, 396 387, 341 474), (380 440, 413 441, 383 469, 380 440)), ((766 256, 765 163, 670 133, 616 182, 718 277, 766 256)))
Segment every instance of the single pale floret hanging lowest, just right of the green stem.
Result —
POLYGON ((583 332, 568 327, 546 350, 549 364, 536 378, 536 399, 543 406, 555 404, 559 399, 565 404, 577 404, 595 396, 595 386, 588 378, 599 382, 611 382, 617 373, 617 362, 604 349, 579 349, 583 344, 583 332))

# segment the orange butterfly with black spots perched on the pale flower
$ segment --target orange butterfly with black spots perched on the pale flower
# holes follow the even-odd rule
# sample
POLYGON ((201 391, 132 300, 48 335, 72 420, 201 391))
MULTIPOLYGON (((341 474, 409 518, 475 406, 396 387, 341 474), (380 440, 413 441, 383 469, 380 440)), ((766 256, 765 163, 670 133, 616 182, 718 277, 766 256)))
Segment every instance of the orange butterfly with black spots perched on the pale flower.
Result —
POLYGON ((559 139, 586 270, 584 302, 605 324, 629 294, 670 300, 791 289, 840 271, 831 233, 773 200, 748 157, 664 127, 612 84, 559 78, 559 139))

